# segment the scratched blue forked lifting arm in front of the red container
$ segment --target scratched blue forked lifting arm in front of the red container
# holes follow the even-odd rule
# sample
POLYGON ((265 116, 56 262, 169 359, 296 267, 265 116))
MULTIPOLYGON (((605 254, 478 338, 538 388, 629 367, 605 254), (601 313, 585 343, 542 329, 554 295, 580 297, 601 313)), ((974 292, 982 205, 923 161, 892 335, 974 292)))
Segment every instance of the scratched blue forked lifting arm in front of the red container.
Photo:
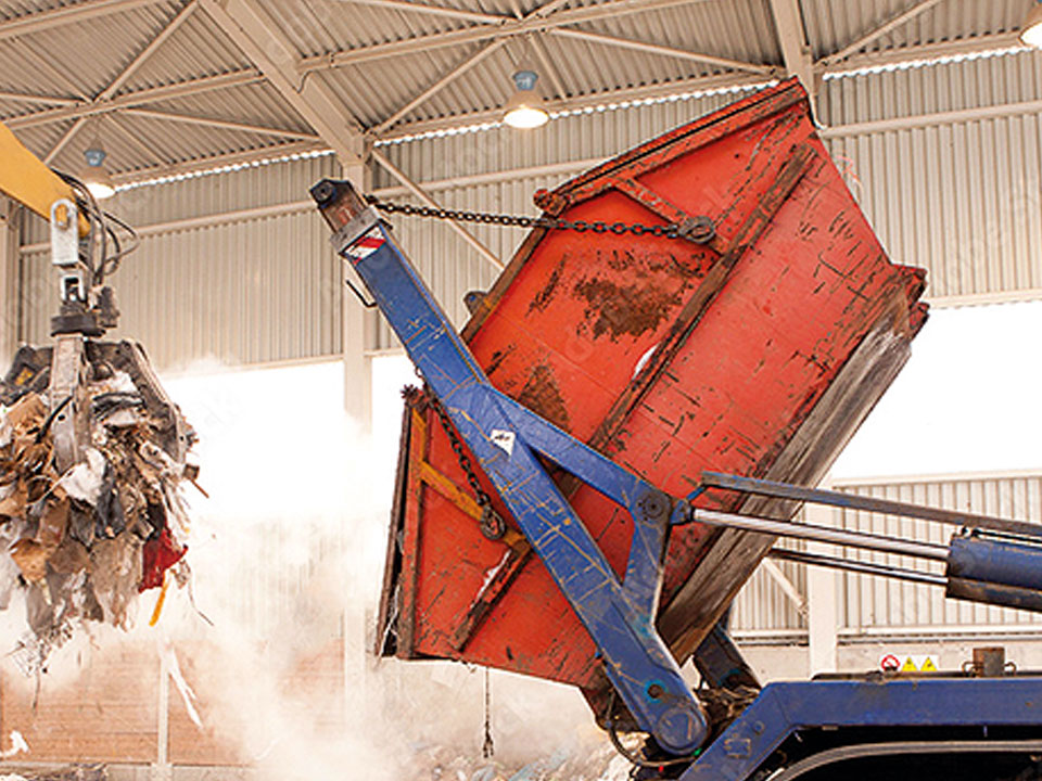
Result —
POLYGON ((348 182, 323 180, 312 195, 409 358, 597 643, 605 669, 640 729, 686 754, 708 733, 706 715, 655 628, 671 523, 687 504, 623 470, 503 395, 488 382, 376 210, 348 182), (620 581, 536 454, 554 461, 633 516, 620 581))

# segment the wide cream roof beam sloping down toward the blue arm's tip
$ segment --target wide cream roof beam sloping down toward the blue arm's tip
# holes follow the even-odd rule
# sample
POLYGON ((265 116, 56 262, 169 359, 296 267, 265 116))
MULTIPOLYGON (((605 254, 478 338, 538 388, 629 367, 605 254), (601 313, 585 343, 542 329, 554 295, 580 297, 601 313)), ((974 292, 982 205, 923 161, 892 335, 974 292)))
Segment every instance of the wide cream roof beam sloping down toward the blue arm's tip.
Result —
POLYGON ((301 78, 296 47, 256 0, 201 0, 201 4, 343 165, 363 159, 358 123, 321 79, 301 78))

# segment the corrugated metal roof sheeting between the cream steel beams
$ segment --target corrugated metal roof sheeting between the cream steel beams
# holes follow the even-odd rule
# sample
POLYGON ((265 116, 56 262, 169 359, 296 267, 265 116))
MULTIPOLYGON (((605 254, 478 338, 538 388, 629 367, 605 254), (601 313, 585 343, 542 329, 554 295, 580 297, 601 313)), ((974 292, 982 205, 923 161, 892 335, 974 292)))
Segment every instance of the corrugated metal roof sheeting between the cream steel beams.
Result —
MULTIPOLYGON (((518 13, 530 13, 542 4, 541 0, 422 2, 509 18, 516 18, 518 13)), ((185 4, 186 0, 155 0, 118 13, 80 20, 75 25, 58 24, 49 29, 18 36, 0 36, 0 91, 60 94, 89 101, 148 47, 185 4)), ((573 0, 562 9, 569 11, 598 4, 573 0)), ((66 5, 75 3, 0 0, 0 20, 25 18, 66 5)), ((911 8, 912 2, 801 0, 801 7, 811 47, 817 55, 825 55, 911 8)), ((1029 7, 1030 0, 941 0, 925 13, 868 43, 867 50, 1006 33, 1016 28, 1029 7)), ((465 18, 352 0, 266 0, 263 9, 302 60, 357 52, 366 47, 408 41, 439 33, 480 29, 480 25, 475 27, 478 23, 465 18)), ((678 0, 665 7, 660 3, 658 8, 573 23, 569 28, 753 64, 780 65, 783 61, 770 0, 678 0)), ((493 33, 488 30, 490 36, 493 33)), ((467 62, 492 40, 485 37, 478 41, 402 54, 390 51, 380 59, 335 68, 323 67, 313 60, 317 72, 302 73, 295 86, 300 88, 306 79, 327 84, 343 104, 348 121, 359 123, 363 127, 378 127, 429 85, 467 62)), ((542 74, 543 93, 552 99, 610 94, 631 88, 689 86, 701 77, 736 73, 719 63, 567 38, 555 34, 552 29, 539 35, 539 40, 558 72, 557 78, 542 74)), ((544 69, 539 59, 526 49, 521 39, 511 39, 507 46, 414 107, 398 120, 397 127, 454 119, 496 108, 509 95, 509 77, 522 60, 533 62, 541 72, 544 69)), ((117 94, 126 99, 127 95, 160 87, 191 86, 194 80, 207 77, 227 74, 249 76, 254 65, 204 10, 196 9, 136 69, 117 94)), ((1035 78, 1025 67, 1020 68, 1017 77, 1035 78)), ((885 78, 878 79, 879 84, 884 81, 885 78)), ((902 88, 900 79, 891 81, 894 89, 902 88)), ((829 113, 837 111, 836 106, 842 103, 842 95, 837 93, 841 89, 831 86, 826 89, 828 97, 823 100, 829 102, 829 113)), ((995 89, 996 95, 1000 92, 1000 89, 995 89)), ((930 100, 929 92, 922 94, 924 101, 930 100)), ((938 102, 942 103, 943 100, 938 99, 938 102)), ((149 107, 310 132, 303 117, 290 107, 285 95, 269 86, 223 87, 191 97, 167 99, 149 107)), ((3 100, 0 101, 0 117, 11 118, 45 108, 47 106, 40 103, 3 100)), ((122 116, 118 121, 117 128, 126 127, 141 133, 140 140, 144 144, 126 138, 111 140, 114 150, 111 162, 117 172, 149 168, 156 161, 191 161, 283 143, 262 133, 202 125, 179 124, 175 127, 174 123, 147 120, 131 115, 122 116), (151 146, 152 154, 142 145, 151 146)), ((56 142, 69 126, 67 118, 55 119, 43 130, 25 128, 17 132, 35 151, 46 153, 49 144, 56 142)), ((68 165, 75 162, 72 158, 76 154, 78 144, 68 144, 59 161, 68 165)))

